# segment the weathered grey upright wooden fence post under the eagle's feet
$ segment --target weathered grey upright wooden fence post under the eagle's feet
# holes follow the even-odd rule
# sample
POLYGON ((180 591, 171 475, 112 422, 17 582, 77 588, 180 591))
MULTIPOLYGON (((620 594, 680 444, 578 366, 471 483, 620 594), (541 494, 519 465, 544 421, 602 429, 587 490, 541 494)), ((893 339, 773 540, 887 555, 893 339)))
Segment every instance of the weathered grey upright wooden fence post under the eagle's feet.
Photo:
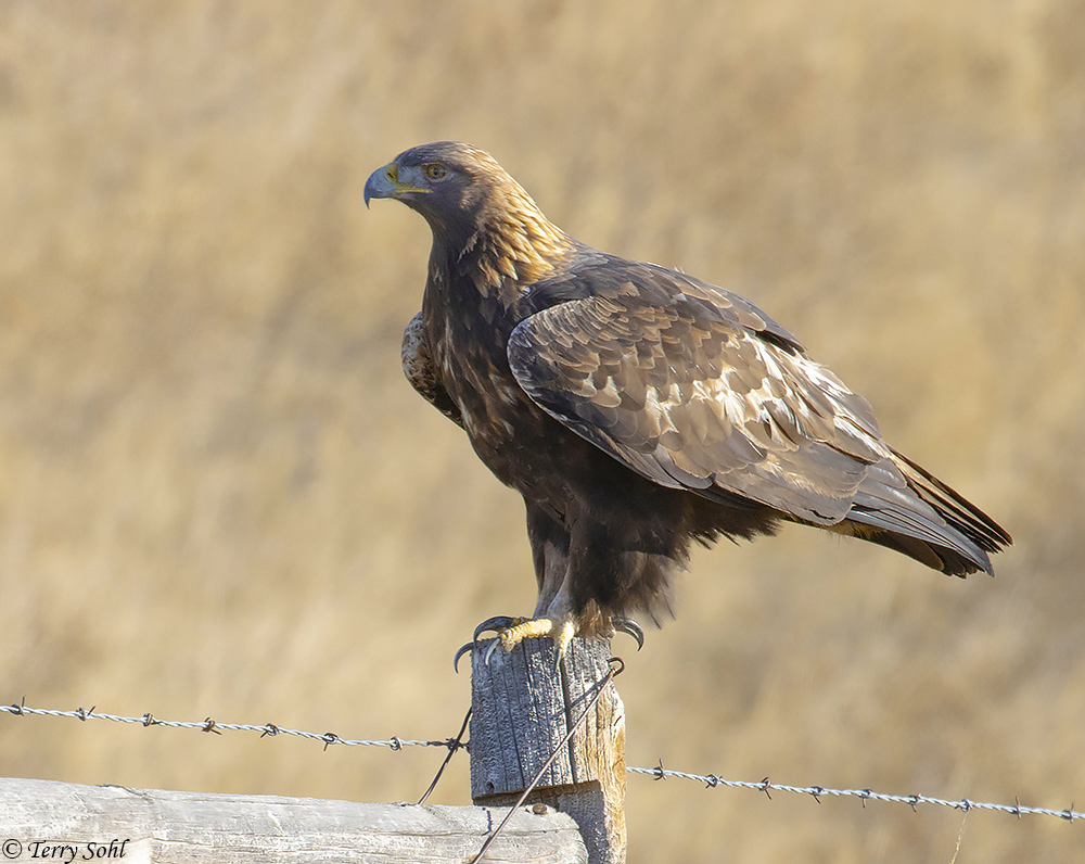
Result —
MULTIPOLYGON (((610 643, 574 639, 560 665, 550 639, 484 656, 471 659, 471 797, 511 806, 607 677, 610 643)), ((611 681, 527 803, 572 816, 590 864, 622 864, 625 777, 625 709, 611 681)))

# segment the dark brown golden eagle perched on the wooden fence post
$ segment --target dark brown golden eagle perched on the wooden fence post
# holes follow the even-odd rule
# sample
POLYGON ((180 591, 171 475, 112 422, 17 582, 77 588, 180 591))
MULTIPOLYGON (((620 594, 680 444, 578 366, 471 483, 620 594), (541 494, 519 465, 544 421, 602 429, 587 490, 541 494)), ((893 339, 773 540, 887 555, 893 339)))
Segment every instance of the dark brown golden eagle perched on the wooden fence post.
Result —
POLYGON ((667 610, 692 541, 781 520, 958 576, 992 572, 987 552, 1011 542, 752 303, 573 240, 489 154, 407 150, 370 176, 372 198, 433 231, 407 378, 527 508, 538 605, 486 622, 506 649, 636 635, 626 615, 667 610))

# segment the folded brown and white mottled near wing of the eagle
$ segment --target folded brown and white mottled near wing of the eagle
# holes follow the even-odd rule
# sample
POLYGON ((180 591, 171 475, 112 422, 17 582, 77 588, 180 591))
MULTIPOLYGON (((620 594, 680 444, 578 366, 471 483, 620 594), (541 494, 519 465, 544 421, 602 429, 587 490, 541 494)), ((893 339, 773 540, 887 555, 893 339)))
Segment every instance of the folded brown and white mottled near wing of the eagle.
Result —
POLYGON ((562 284, 513 330, 512 372, 643 477, 831 525, 890 456, 869 404, 741 297, 610 256, 562 284))

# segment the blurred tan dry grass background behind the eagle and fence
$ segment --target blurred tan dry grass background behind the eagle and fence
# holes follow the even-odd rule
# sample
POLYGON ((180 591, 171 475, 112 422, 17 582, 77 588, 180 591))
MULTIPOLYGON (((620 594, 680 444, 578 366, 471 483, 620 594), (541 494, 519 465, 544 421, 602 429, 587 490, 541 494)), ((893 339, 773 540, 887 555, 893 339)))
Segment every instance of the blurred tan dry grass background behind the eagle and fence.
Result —
MULTIPOLYGON (((629 764, 1082 809, 1083 46, 1081 0, 7 0, 0 701, 455 734, 522 508, 399 370, 424 223, 362 205, 451 138, 753 298, 1017 539, 699 554, 615 643, 629 764)), ((0 775, 78 783, 413 800, 442 754, 0 715, 0 775)), ((628 821, 631 862, 948 862, 962 817, 630 777, 628 821)), ((973 811, 956 861, 1083 855, 973 811)))

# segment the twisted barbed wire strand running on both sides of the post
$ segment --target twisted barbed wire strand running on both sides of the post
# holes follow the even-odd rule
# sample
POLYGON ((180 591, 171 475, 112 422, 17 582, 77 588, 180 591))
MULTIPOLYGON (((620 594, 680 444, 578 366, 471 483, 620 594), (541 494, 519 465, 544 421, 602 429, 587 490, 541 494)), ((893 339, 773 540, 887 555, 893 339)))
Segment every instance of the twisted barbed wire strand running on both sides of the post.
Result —
MULTIPOLYGON (((16 716, 40 715, 52 717, 72 717, 84 722, 88 720, 107 720, 114 723, 131 723, 141 726, 165 726, 168 728, 199 729, 201 732, 214 733, 216 735, 221 735, 224 730, 258 732, 261 738, 265 736, 273 737, 276 735, 293 735, 299 738, 308 738, 310 740, 320 741, 323 744, 324 750, 332 745, 343 745, 345 747, 390 747, 394 751, 401 750, 405 747, 444 747, 451 753, 458 749, 469 749, 470 747, 470 741, 461 744, 457 738, 445 738, 442 740, 411 740, 394 735, 391 738, 378 740, 350 739, 343 738, 333 732, 316 733, 305 732, 303 729, 290 729, 283 726, 278 726, 275 723, 265 723, 263 725, 252 723, 219 723, 212 717, 207 717, 202 721, 159 720, 150 712, 138 717, 123 716, 98 711, 97 707, 91 707, 89 709, 77 708, 74 711, 62 711, 52 708, 30 708, 25 704, 25 702, 20 702, 17 704, 0 704, 0 712, 7 712, 16 716)), ((726 787, 730 789, 750 789, 752 791, 764 792, 769 799, 773 797, 771 792, 779 791, 808 796, 818 803, 821 803, 822 797, 858 798, 863 802, 863 806, 866 806, 867 801, 884 801, 888 803, 907 804, 914 811, 918 810, 920 804, 933 804, 935 806, 960 810, 965 813, 970 810, 990 810, 997 813, 1014 815, 1018 818, 1034 815, 1055 816, 1056 818, 1071 823, 1076 819, 1085 819, 1085 813, 1074 810, 1073 803, 1071 803, 1065 810, 1054 810, 1051 808, 1026 806, 1017 798, 1013 799, 1012 804, 995 804, 987 801, 973 801, 968 798, 961 798, 954 801, 946 798, 936 798, 934 796, 918 793, 888 795, 885 792, 876 792, 872 789, 833 789, 826 786, 793 786, 790 784, 773 783, 768 779, 768 777, 756 782, 728 780, 715 774, 692 774, 685 771, 665 768, 663 767, 662 761, 653 768, 627 767, 626 772, 629 774, 647 775, 656 780, 665 780, 672 777, 682 780, 694 780, 697 783, 704 784, 705 788, 709 789, 715 789, 718 787, 726 787)))

